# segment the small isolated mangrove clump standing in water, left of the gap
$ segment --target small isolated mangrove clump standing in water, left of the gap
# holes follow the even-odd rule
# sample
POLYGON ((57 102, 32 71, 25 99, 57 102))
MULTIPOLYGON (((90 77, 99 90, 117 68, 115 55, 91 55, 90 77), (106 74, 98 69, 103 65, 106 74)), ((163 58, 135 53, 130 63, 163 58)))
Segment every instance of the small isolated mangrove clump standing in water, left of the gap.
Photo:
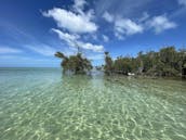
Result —
POLYGON ((56 52, 55 56, 63 59, 61 66, 64 73, 71 72, 74 74, 85 74, 92 69, 91 62, 87 58, 82 58, 81 53, 65 56, 63 53, 56 52))

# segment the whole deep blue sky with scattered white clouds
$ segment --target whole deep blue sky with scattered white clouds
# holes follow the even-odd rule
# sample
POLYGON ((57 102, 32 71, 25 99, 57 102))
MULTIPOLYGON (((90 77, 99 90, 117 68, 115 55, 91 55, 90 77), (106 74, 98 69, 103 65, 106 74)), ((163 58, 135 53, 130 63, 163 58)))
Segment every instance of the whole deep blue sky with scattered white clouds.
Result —
POLYGON ((0 67, 58 67, 77 47, 94 65, 186 48, 186 0, 1 0, 0 67))

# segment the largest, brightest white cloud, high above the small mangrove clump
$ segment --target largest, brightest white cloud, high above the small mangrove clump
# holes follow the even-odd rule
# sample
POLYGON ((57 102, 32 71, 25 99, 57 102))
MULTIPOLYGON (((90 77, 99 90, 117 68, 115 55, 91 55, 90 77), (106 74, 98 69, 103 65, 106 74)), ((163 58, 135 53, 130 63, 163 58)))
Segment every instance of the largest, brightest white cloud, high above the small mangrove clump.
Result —
POLYGON ((58 27, 65 28, 70 33, 94 33, 98 28, 95 23, 91 22, 93 11, 89 11, 87 14, 76 14, 64 9, 54 8, 48 12, 43 12, 43 15, 53 17, 58 27))

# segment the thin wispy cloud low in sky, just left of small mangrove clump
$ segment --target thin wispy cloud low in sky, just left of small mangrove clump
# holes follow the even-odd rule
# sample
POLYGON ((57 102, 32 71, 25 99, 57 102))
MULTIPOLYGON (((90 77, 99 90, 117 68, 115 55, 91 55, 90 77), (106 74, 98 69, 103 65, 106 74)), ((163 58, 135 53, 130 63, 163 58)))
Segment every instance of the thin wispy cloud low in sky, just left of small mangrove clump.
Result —
POLYGON ((46 44, 26 44, 24 46, 25 48, 29 49, 29 50, 32 50, 37 53, 40 53, 42 55, 45 55, 45 56, 52 56, 54 55, 54 53, 56 52, 56 50, 52 47, 49 47, 46 44))

